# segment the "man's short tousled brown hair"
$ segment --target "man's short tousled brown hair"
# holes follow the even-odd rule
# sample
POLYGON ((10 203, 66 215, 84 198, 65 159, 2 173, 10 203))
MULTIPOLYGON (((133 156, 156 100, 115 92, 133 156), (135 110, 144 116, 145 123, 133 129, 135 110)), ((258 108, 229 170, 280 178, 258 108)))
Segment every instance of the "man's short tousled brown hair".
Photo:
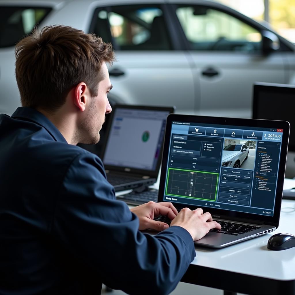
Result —
POLYGON ((22 106, 54 111, 68 92, 85 82, 97 96, 101 64, 114 61, 111 44, 94 34, 63 25, 47 26, 20 40, 15 49, 15 76, 22 106))

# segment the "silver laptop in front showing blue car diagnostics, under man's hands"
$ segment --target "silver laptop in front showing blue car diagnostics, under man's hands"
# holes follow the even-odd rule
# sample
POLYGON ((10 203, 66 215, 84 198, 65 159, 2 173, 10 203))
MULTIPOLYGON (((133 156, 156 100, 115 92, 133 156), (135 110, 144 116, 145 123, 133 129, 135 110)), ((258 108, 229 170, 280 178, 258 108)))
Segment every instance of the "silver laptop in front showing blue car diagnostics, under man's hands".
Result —
POLYGON ((197 245, 221 248, 272 232, 289 130, 286 121, 169 115, 158 201, 201 207, 222 225, 197 245))

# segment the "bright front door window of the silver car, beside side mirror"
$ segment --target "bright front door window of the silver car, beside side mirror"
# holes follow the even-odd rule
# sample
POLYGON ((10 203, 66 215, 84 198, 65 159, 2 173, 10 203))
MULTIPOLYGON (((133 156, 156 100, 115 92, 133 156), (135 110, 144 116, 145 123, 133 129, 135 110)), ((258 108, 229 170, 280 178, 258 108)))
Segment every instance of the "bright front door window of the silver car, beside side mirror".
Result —
POLYGON ((193 50, 253 52, 261 48, 259 31, 227 13, 179 5, 176 14, 193 50))

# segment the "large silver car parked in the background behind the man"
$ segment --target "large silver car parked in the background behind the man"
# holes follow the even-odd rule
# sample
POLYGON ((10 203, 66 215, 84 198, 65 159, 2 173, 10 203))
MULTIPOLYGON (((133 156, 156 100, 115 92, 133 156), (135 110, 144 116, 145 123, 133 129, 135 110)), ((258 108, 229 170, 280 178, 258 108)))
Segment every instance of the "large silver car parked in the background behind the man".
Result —
POLYGON ((250 117, 254 82, 295 84, 294 44, 213 1, 0 0, 0 16, 0 113, 20 104, 14 45, 53 24, 113 44, 112 103, 250 117))

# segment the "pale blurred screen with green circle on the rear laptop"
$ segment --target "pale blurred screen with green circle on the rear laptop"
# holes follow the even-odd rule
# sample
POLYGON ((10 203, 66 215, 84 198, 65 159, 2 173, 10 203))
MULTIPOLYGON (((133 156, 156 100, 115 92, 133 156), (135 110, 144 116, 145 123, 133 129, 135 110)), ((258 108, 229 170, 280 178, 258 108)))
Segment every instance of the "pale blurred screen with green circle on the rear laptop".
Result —
POLYGON ((115 107, 104 165, 155 171, 161 157, 166 118, 171 110, 115 107))

